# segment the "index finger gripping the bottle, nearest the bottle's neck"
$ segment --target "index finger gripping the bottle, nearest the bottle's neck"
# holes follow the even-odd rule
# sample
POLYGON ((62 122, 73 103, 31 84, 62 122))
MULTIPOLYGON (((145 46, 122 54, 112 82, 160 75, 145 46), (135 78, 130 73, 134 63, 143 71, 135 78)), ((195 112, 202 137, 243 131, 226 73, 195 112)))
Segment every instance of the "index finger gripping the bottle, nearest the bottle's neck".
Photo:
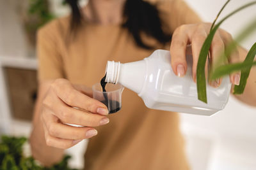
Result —
POLYGON ((173 72, 177 76, 185 76, 187 71, 186 48, 188 45, 188 35, 186 28, 180 26, 173 32, 172 43, 170 46, 171 65, 173 72))

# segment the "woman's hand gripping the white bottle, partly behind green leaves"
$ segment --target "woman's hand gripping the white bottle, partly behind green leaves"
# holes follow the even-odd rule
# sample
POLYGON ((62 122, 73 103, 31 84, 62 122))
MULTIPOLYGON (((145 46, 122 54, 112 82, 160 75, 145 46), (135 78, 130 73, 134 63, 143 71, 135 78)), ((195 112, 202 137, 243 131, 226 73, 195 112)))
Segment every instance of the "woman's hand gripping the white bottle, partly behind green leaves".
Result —
MULTIPOLYGON (((187 24, 181 25, 173 32, 170 54, 172 56, 172 69, 177 76, 184 76, 186 74, 186 49, 188 45, 191 45, 193 55, 192 76, 193 80, 196 81, 196 66, 199 53, 209 34, 210 28, 211 24, 209 23, 187 24)), ((228 32, 223 29, 216 31, 210 48, 211 66, 214 66, 220 54, 225 50, 225 46, 231 41, 233 41, 232 36, 228 32)), ((235 50, 228 58, 228 62, 239 62, 239 59, 239 52, 235 50)), ((208 64, 205 66, 206 74, 207 66, 208 64)), ((239 85, 240 73, 230 74, 230 81, 235 85, 239 85)), ((212 87, 218 87, 220 83, 221 79, 210 82, 212 87)))

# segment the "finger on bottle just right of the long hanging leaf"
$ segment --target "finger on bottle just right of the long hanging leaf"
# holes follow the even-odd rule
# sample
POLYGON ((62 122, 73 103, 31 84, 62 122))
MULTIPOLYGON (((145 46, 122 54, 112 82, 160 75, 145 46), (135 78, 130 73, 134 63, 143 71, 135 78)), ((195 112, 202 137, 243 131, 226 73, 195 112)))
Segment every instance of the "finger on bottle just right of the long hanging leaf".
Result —
MULTIPOLYGON (((223 39, 221 38, 220 34, 216 32, 214 35, 214 38, 212 39, 211 43, 211 67, 214 69, 216 66, 220 66, 225 64, 225 59, 220 59, 222 56, 221 54, 225 50, 225 44, 223 42, 223 39)), ((209 83, 212 87, 219 87, 220 83, 222 81, 222 78, 218 78, 217 80, 211 80, 209 83)))

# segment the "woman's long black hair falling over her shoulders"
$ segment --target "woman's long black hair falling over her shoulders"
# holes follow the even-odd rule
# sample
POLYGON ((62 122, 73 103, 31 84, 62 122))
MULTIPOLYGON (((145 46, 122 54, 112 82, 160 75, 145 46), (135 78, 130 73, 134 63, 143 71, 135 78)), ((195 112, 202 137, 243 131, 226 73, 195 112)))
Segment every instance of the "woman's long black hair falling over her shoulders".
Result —
MULTIPOLYGON (((78 0, 66 0, 72 8, 71 31, 78 29, 83 19, 78 6, 78 0)), ((124 24, 131 32, 136 44, 142 48, 151 49, 141 39, 141 32, 151 36, 163 45, 168 43, 172 36, 163 31, 163 21, 159 17, 156 6, 143 0, 126 0, 124 5, 124 24)))

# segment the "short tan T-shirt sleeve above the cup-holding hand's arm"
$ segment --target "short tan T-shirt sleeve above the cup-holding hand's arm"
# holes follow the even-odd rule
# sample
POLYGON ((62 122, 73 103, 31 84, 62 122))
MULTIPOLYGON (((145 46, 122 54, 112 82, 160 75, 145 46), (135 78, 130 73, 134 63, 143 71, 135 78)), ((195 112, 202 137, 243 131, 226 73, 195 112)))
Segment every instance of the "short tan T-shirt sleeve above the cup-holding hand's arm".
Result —
POLYGON ((63 60, 58 50, 56 20, 37 32, 38 81, 63 78, 63 60))

